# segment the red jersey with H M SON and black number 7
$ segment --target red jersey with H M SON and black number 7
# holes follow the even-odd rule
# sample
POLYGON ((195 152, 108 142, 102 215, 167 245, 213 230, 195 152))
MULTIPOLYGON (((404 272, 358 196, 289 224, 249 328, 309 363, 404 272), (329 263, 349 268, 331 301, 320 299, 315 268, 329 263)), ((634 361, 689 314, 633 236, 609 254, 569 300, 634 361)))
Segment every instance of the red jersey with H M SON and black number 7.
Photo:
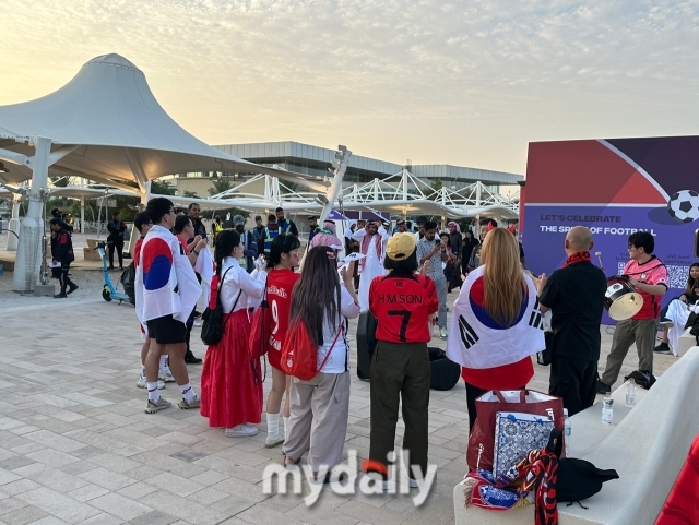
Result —
POLYGON ((435 282, 425 275, 376 277, 369 286, 369 310, 377 318, 377 341, 429 343, 428 315, 439 308, 435 282))

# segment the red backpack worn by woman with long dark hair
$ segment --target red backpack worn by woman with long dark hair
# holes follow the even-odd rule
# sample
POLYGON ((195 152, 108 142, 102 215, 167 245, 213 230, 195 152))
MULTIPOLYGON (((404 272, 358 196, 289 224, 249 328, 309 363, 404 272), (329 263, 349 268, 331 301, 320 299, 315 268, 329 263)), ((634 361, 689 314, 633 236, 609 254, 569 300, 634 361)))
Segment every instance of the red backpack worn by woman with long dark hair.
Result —
POLYGON ((337 343, 337 337, 342 333, 344 322, 340 323, 340 329, 335 335, 335 339, 332 342, 332 346, 325 354, 323 362, 318 367, 318 346, 308 335, 306 323, 298 322, 289 326, 282 345, 282 356, 280 358, 280 367, 282 371, 301 381, 309 381, 313 379, 318 372, 325 366, 325 361, 332 354, 332 349, 337 343))

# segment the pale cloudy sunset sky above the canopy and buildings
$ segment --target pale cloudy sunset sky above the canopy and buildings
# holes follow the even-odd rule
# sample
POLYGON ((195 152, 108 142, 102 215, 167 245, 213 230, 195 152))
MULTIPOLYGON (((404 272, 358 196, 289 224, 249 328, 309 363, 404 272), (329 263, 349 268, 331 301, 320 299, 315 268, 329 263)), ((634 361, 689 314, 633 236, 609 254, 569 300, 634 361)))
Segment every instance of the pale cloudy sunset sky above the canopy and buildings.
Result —
POLYGON ((530 141, 699 133, 699 0, 0 0, 0 105, 91 58, 211 144, 524 174, 530 141))

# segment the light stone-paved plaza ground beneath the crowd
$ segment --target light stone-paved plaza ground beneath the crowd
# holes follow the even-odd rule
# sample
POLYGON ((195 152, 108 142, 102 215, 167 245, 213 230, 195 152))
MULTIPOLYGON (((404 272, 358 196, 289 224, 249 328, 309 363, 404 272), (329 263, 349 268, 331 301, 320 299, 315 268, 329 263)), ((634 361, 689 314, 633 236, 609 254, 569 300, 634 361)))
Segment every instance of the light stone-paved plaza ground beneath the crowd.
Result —
MULTIPOLYGON (((5 243, 0 237, 0 254, 5 243)), ((76 252, 82 246, 84 236, 76 235, 76 252)), ((95 263, 78 261, 72 278, 80 289, 57 300, 14 294, 12 274, 0 276, 0 525, 453 523, 452 490, 465 474, 463 382, 430 394, 429 463, 438 472, 423 506, 415 509, 406 496, 325 490, 307 508, 299 496, 262 493, 264 467, 283 462, 281 446, 264 448, 264 423, 253 438, 230 439, 194 410, 144 414, 146 393, 135 387, 142 341, 133 307, 102 299, 95 263)), ((450 305, 457 296, 449 295, 450 305)), ((601 331, 604 368, 613 327, 601 331)), ((199 337, 192 339, 194 354, 204 357, 199 337)), ((369 384, 356 377, 354 336, 352 343, 345 455, 356 450, 364 458, 369 384)), ((656 375, 675 361, 655 357, 656 375)), ((621 375, 637 362, 632 348, 621 375)), ((548 368, 535 370, 529 386, 546 391, 548 368)), ((189 371, 199 391, 201 366, 189 371)), ((268 374, 265 395, 270 387, 268 374)), ((174 404, 179 398, 174 383, 162 394, 174 404)), ((399 427, 396 444, 402 421, 399 427)))

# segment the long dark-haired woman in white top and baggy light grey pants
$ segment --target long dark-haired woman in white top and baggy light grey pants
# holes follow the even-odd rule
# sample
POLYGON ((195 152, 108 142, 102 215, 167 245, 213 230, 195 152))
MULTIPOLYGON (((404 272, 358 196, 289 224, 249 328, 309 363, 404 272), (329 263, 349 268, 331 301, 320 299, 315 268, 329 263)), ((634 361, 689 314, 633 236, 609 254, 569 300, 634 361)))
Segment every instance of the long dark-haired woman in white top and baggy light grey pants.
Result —
POLYGON ((301 381, 292 378, 289 430, 284 443, 286 464, 299 462, 308 449, 308 464, 317 477, 321 466, 329 472, 340 463, 350 411, 350 343, 347 320, 359 315, 352 286, 354 262, 337 274, 337 258, 331 247, 310 250, 301 278, 292 295, 289 327, 304 323, 318 347, 318 374, 301 381))

